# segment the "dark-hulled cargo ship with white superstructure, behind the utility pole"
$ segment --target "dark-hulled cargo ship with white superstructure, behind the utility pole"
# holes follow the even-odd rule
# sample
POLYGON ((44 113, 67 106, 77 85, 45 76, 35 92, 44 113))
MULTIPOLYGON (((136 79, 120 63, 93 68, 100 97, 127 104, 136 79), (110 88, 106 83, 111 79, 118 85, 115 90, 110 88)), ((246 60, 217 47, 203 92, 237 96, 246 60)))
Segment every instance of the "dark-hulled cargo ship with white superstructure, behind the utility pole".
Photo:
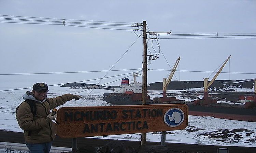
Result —
MULTIPOLYGON (((256 81, 255 81, 256 84, 256 81)), ((114 88, 114 92, 106 92, 103 99, 112 105, 140 105, 142 97, 142 83, 129 83, 129 79, 122 79, 121 85, 114 88)), ((205 96, 204 96, 205 98, 205 96)), ((177 104, 188 106, 188 114, 195 116, 212 116, 215 118, 256 122, 255 96, 240 96, 241 104, 217 103, 216 98, 207 96, 207 99, 193 102, 183 101, 175 97, 153 98, 147 95, 146 104, 177 104)))

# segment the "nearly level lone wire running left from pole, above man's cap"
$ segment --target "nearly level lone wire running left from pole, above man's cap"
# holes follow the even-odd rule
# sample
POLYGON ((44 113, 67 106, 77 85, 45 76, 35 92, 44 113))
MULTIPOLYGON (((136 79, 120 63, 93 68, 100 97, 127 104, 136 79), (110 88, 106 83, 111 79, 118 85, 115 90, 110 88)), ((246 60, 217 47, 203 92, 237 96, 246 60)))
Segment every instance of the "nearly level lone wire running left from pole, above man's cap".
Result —
POLYGON ((46 72, 46 73, 9 73, 9 74, 0 74, 0 75, 65 74, 65 73, 90 73, 90 72, 129 71, 129 70, 140 70, 140 69, 138 68, 138 69, 123 69, 123 70, 78 71, 78 72, 46 72))

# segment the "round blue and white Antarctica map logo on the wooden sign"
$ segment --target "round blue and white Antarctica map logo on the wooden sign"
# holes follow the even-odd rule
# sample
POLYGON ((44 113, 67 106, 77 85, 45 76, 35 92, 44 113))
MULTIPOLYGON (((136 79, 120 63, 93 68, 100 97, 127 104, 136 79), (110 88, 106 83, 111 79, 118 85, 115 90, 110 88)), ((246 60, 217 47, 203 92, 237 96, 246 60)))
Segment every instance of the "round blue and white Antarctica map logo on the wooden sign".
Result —
POLYGON ((184 112, 180 108, 171 108, 163 116, 166 125, 176 127, 184 121, 184 112))

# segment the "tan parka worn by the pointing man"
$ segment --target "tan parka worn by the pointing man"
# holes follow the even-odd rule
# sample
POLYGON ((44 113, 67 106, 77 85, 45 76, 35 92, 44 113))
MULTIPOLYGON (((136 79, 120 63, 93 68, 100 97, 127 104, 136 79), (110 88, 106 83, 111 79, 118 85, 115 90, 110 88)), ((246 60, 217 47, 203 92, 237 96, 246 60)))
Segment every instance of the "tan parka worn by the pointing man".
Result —
POLYGON ((56 135, 56 125, 48 117, 50 110, 72 100, 75 95, 65 94, 56 98, 46 98, 44 102, 34 101, 37 112, 33 116, 27 102, 20 104, 16 119, 28 143, 44 143, 53 141, 56 135))

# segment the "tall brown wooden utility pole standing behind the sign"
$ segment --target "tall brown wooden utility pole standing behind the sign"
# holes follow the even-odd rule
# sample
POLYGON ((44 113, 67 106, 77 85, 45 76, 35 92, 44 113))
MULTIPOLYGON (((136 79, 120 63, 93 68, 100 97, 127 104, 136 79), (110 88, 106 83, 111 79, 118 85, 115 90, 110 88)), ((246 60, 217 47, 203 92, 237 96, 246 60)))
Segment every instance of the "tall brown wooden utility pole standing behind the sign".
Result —
MULTIPOLYGON (((146 21, 143 21, 143 69, 142 69, 142 105, 147 100, 147 32, 146 21)), ((141 145, 146 144, 147 133, 141 133, 141 145)))

